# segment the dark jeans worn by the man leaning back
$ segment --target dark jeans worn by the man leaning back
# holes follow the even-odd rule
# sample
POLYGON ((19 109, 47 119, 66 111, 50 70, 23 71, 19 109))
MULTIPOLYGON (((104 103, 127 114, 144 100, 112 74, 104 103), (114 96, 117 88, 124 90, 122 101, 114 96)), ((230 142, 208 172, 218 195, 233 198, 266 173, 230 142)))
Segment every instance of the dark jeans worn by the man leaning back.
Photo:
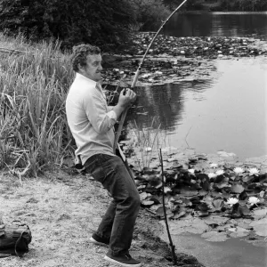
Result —
POLYGON ((113 198, 95 233, 109 240, 112 255, 125 255, 131 247, 140 207, 136 185, 122 159, 117 156, 93 155, 85 162, 85 170, 94 180, 101 182, 113 198))

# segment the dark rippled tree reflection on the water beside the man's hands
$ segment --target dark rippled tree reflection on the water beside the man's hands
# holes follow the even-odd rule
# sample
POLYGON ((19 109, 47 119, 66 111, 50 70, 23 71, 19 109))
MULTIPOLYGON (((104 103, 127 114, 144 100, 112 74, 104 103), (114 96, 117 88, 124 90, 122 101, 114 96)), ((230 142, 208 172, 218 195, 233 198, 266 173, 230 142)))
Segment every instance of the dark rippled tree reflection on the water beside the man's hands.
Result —
POLYGON ((158 117, 161 128, 167 133, 174 133, 176 125, 182 124, 186 117, 186 102, 190 98, 194 101, 205 100, 203 93, 212 83, 212 80, 194 80, 179 84, 137 87, 138 107, 137 110, 129 112, 130 120, 135 119, 139 127, 148 127, 152 117, 158 117), (143 116, 143 113, 146 116, 143 116))

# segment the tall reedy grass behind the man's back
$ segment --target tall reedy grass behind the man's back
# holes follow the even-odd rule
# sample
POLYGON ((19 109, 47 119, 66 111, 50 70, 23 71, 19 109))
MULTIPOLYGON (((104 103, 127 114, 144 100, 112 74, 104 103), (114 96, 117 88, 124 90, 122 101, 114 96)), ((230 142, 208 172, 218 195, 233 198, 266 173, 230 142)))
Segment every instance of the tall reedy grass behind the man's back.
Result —
POLYGON ((3 45, 25 53, 0 53, 0 168, 28 167, 36 175, 69 153, 69 54, 58 42, 29 44, 23 36, 2 35, 3 45))

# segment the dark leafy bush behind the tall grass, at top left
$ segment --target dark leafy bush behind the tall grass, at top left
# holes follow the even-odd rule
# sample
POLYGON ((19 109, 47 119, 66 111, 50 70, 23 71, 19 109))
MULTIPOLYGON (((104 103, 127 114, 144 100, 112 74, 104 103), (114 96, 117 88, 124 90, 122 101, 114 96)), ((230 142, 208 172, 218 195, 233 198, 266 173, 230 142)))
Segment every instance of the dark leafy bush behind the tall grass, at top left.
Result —
POLYGON ((64 47, 120 44, 134 23, 128 1, 1 0, 0 30, 28 38, 59 38, 64 47))

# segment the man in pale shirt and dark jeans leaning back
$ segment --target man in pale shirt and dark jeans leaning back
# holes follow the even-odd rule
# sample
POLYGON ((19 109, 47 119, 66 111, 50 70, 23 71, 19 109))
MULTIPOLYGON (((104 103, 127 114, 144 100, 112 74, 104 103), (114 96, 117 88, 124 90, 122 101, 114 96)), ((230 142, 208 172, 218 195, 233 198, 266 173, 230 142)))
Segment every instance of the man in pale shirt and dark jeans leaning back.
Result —
POLYGON ((141 266, 129 255, 140 197, 121 158, 113 153, 117 118, 136 99, 122 90, 117 105, 107 106, 101 89, 101 51, 90 44, 74 47, 72 68, 77 72, 66 101, 68 124, 77 143, 76 157, 86 172, 101 182, 113 198, 91 242, 109 246, 105 259, 121 266, 141 266))

